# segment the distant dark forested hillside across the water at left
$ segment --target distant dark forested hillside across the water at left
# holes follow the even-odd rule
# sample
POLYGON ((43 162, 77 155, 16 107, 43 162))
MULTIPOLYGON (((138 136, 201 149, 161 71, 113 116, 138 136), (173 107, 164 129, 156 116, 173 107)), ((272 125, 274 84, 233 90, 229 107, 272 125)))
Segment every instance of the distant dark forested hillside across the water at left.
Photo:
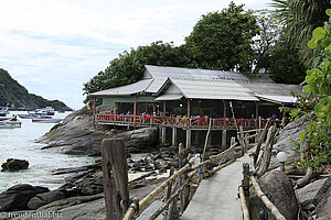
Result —
POLYGON ((26 88, 21 86, 2 68, 0 68, 0 106, 9 107, 13 110, 34 110, 36 108, 53 107, 55 110, 72 111, 62 101, 47 100, 41 96, 29 94, 26 88))

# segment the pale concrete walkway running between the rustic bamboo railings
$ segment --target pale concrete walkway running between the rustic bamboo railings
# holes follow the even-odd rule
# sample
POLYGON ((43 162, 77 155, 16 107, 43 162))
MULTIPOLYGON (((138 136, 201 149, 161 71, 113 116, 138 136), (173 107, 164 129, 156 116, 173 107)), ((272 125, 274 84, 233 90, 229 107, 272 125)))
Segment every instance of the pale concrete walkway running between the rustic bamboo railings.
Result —
POLYGON ((237 194, 243 179, 243 163, 249 163, 248 155, 203 179, 181 220, 242 220, 237 194))

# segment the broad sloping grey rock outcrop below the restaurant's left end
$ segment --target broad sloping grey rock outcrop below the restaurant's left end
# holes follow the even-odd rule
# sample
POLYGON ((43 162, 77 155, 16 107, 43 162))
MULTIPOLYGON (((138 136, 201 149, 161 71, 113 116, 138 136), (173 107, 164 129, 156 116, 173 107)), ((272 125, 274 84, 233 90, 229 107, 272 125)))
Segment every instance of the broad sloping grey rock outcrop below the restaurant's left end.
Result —
POLYGON ((38 142, 45 143, 44 148, 56 148, 65 154, 100 155, 104 139, 120 138, 125 140, 128 152, 148 152, 158 145, 157 128, 134 131, 110 130, 106 125, 92 125, 92 111, 83 108, 68 114, 61 124, 51 129, 38 142))

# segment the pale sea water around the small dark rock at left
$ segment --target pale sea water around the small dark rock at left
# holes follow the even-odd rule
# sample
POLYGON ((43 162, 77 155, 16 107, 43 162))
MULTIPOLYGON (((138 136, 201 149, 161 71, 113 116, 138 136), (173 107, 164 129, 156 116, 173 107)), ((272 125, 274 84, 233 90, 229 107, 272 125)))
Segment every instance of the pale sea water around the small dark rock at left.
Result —
MULTIPOLYGON (((28 113, 11 111, 10 114, 28 113)), ((54 118, 64 118, 66 113, 55 113, 54 118)), ((0 172, 0 193, 17 184, 30 184, 55 189, 64 184, 65 175, 52 175, 56 168, 76 167, 92 164, 95 158, 54 153, 52 150, 41 150, 45 144, 35 140, 50 131, 54 123, 32 123, 31 119, 18 119, 21 128, 0 129, 0 165, 8 158, 28 160, 28 169, 20 172, 0 172)))

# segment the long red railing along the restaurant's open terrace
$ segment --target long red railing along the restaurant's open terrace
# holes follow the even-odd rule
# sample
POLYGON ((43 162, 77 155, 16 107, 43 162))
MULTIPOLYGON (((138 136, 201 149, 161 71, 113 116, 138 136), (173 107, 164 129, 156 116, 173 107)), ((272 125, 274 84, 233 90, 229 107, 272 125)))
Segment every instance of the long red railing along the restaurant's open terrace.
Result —
POLYGON ((152 125, 152 124, 164 124, 164 125, 177 125, 177 127, 192 127, 192 128, 207 128, 211 124, 212 128, 264 128, 266 123, 266 119, 228 119, 226 118, 191 118, 186 117, 152 117, 152 116, 136 116, 136 122, 134 116, 125 116, 125 114, 100 114, 96 116, 96 121, 102 123, 109 124, 136 124, 136 127, 141 125, 152 125))

